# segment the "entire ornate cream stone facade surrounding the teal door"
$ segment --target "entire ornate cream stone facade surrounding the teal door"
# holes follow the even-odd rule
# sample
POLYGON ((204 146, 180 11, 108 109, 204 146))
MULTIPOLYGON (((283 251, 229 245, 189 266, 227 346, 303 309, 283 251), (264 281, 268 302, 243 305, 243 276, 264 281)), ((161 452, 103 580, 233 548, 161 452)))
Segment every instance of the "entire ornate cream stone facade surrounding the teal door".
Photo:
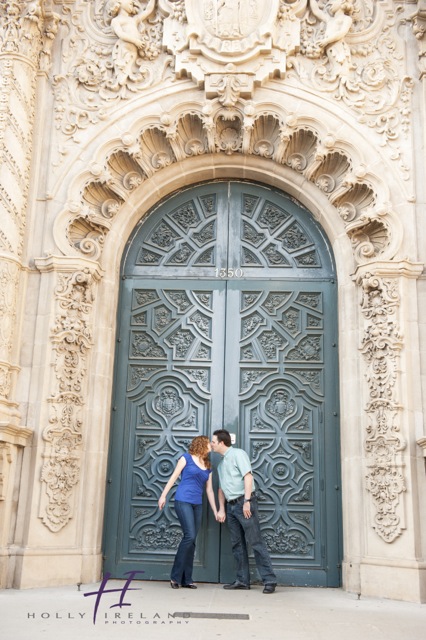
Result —
POLYGON ((3 586, 39 584, 52 549, 44 584, 99 578, 121 256, 162 198, 232 176, 297 197, 335 253, 344 586, 424 601, 425 3, 34 0, 0 17, 0 541, 6 558, 16 518, 19 556, 3 586))

